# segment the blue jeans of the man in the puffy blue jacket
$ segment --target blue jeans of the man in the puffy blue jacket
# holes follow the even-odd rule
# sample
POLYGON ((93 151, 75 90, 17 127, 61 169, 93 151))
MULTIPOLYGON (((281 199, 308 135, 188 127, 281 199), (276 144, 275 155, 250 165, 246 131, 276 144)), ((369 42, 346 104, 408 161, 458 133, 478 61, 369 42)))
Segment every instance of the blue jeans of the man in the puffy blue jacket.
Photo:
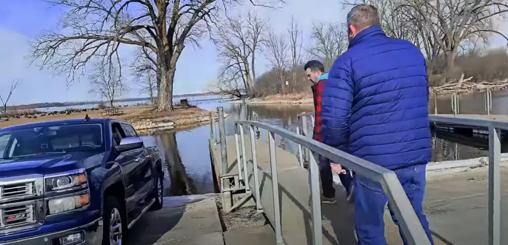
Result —
MULTIPOLYGON (((434 244, 427 218, 423 214, 423 198, 425 194, 425 165, 415 165, 395 170, 407 198, 422 223, 431 244, 434 244)), ((378 183, 355 176, 355 228, 358 245, 386 245, 385 223, 383 220, 387 196, 378 183)), ((399 225, 390 205, 390 214, 396 225, 399 225)), ((399 229, 400 230, 400 229, 399 229)), ((400 234, 404 244, 406 239, 400 234)))

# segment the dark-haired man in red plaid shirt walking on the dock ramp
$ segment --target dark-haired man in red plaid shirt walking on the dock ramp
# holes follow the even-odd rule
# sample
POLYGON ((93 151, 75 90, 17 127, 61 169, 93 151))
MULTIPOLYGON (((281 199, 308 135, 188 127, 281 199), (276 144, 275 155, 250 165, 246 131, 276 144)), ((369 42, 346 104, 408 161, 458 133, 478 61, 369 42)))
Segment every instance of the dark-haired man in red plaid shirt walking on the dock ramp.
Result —
MULTIPOLYGON (((304 68, 307 73, 307 79, 312 82, 312 95, 314 98, 314 130, 312 139, 323 142, 323 136, 321 135, 322 129, 322 118, 321 111, 323 109, 322 94, 325 82, 328 80, 328 73, 325 73, 325 67, 317 60, 310 60, 305 64, 304 68)), ((320 165, 321 174, 321 186, 323 189, 323 195, 321 201, 323 203, 336 203, 335 200, 335 189, 333 188, 333 172, 332 166, 336 173, 339 174, 342 186, 346 190, 346 199, 351 200, 353 194, 352 175, 347 169, 341 167, 339 164, 330 163, 330 161, 322 156, 319 156, 317 161, 320 165)))

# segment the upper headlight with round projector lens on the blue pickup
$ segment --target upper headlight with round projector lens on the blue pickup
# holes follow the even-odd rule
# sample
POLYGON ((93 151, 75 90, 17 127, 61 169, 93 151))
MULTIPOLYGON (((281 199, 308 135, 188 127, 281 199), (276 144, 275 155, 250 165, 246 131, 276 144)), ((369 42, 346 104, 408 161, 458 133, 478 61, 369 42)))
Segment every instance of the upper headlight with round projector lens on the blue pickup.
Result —
POLYGON ((53 175, 45 178, 46 192, 60 191, 71 188, 85 188, 87 178, 84 169, 53 175))

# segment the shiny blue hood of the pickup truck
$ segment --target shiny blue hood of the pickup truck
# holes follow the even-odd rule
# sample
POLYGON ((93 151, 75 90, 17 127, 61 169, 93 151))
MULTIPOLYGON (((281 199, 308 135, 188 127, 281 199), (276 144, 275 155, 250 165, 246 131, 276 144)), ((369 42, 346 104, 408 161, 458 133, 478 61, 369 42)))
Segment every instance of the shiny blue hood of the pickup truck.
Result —
POLYGON ((0 159, 0 177, 24 174, 51 174, 101 164, 104 152, 67 152, 0 159))

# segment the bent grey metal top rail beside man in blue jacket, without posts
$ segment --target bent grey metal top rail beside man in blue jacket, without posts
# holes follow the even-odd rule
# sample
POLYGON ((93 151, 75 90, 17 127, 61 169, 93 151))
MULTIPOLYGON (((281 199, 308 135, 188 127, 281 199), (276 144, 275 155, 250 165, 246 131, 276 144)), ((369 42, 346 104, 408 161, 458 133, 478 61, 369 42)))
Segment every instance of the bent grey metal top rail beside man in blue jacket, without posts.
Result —
POLYGON ((313 152, 330 159, 332 162, 340 163, 341 165, 352 169, 357 174, 380 183, 391 206, 393 207, 392 211, 394 212, 395 217, 399 220, 402 232, 408 239, 409 244, 430 245, 430 241, 415 213, 415 210, 412 208, 409 200, 407 199, 407 196, 394 171, 347 154, 344 151, 340 151, 319 141, 298 135, 286 129, 277 128, 266 123, 260 123, 259 121, 237 120, 234 123, 235 125, 258 127, 277 134, 309 148, 313 152))

